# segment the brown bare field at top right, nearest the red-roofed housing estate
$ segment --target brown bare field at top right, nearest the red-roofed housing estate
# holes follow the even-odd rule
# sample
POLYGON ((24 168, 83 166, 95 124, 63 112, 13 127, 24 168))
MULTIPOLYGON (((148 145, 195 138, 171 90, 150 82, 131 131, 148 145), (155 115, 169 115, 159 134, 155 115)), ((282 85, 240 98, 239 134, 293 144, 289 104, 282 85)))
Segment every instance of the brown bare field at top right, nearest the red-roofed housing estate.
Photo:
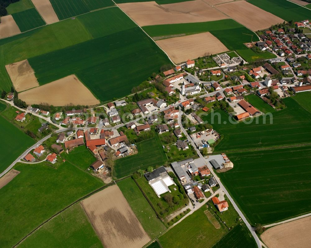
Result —
POLYGON ((245 2, 244 0, 223 3, 216 5, 215 8, 253 31, 267 29, 271 27, 271 25, 284 22, 283 19, 264 11, 251 3, 245 2), (250 16, 252 18, 250 18, 250 16))

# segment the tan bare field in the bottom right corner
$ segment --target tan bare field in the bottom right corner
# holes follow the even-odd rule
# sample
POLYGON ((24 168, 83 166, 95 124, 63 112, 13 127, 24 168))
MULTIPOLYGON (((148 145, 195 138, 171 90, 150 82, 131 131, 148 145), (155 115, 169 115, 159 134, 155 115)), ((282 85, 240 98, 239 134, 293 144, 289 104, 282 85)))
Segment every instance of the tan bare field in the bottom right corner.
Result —
POLYGON ((310 247, 311 216, 269 228, 260 236, 269 248, 310 247))

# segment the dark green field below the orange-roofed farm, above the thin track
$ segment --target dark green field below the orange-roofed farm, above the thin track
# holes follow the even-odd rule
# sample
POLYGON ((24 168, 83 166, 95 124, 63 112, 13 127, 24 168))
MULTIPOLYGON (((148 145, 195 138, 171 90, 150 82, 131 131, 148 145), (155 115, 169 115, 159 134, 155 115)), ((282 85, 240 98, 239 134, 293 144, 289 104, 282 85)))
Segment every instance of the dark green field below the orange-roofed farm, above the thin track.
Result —
POLYGON ((306 127, 311 125, 310 113, 306 112, 293 98, 286 98, 283 101, 287 107, 272 113, 272 121, 269 116, 266 118, 260 116, 252 119, 251 123, 233 121, 234 124, 231 124, 228 114, 223 110, 216 110, 213 114, 202 116, 204 121, 208 121, 217 132, 224 135, 215 147, 215 151, 227 152, 309 142, 311 130, 306 127), (213 115, 214 118, 212 118, 213 115))

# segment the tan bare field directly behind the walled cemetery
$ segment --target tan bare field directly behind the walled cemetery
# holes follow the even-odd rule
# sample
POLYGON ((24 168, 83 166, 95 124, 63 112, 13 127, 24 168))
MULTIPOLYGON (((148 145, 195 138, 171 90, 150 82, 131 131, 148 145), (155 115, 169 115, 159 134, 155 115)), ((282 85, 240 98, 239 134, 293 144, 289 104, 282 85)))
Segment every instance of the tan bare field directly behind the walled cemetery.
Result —
POLYGON ((216 54, 229 50, 210 32, 158 40, 156 43, 175 63, 195 59, 206 53, 216 54))

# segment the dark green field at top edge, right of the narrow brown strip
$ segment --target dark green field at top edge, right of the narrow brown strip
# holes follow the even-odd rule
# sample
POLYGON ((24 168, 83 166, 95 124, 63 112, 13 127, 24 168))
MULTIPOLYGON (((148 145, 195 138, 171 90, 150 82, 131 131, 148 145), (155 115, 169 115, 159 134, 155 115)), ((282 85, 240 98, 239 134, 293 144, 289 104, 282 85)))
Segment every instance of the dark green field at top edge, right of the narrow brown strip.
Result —
POLYGON ((50 2, 59 20, 114 5, 111 0, 50 0, 50 2))

